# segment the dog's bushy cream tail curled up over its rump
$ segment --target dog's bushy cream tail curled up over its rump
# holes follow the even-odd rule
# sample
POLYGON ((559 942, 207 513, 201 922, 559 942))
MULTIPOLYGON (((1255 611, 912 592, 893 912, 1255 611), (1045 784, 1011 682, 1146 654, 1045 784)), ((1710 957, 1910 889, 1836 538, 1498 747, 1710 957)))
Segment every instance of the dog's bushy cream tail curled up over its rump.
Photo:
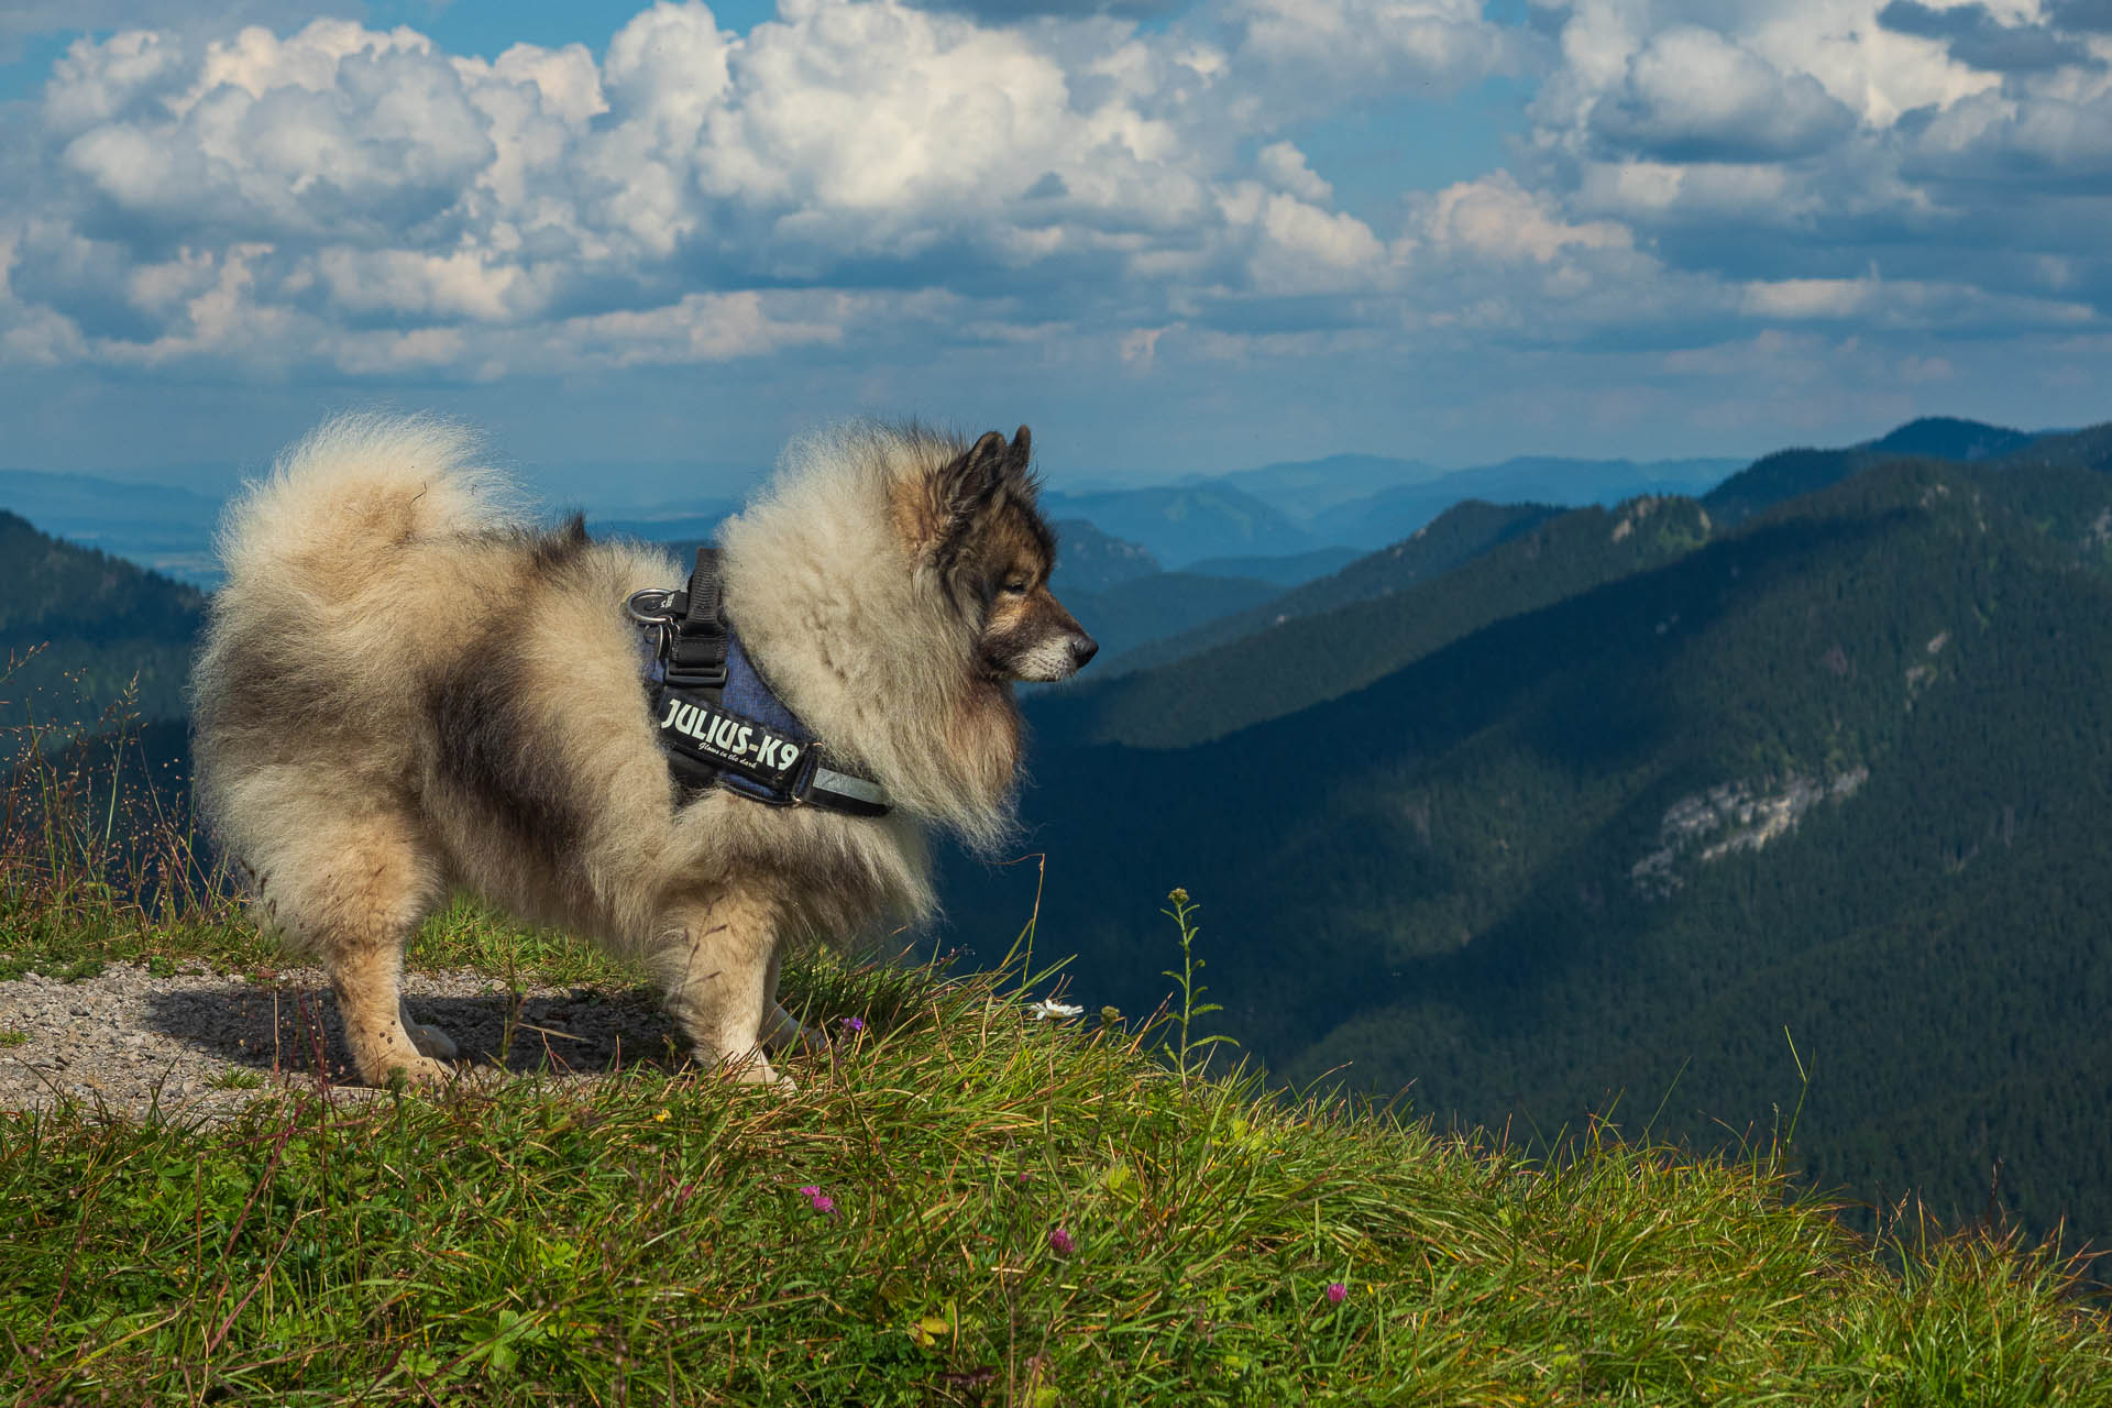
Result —
POLYGON ((509 490, 475 452, 471 431, 435 416, 325 420, 228 505, 218 540, 228 587, 289 568, 317 587, 361 578, 412 538, 509 524, 509 490))

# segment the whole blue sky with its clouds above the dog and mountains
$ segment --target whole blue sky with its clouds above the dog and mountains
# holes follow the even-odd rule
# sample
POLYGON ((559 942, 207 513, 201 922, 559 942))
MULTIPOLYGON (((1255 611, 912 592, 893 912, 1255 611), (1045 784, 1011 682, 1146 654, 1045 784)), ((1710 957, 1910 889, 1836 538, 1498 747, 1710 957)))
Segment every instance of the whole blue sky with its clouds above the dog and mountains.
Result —
POLYGON ((8 0, 0 467, 591 505, 2112 420, 2112 0, 8 0))

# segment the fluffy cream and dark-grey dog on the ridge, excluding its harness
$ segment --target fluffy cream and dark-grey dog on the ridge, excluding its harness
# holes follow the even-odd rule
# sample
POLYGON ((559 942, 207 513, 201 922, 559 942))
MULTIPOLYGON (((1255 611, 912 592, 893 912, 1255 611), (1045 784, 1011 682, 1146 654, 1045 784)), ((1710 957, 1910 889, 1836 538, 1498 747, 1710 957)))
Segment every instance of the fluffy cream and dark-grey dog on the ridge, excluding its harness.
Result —
POLYGON ((469 891, 642 958, 701 1064, 790 1085, 771 1053, 817 1039, 775 1001, 786 946, 927 918, 927 832, 991 853, 1014 825, 1012 682, 1096 650, 1050 593, 1029 431, 817 433, 720 528, 739 644, 885 787, 879 817, 682 785, 627 614, 682 570, 579 515, 534 526, 475 452, 441 420, 336 418, 230 505, 192 676, 201 815, 327 971, 367 1083, 454 1074, 399 979, 469 891))

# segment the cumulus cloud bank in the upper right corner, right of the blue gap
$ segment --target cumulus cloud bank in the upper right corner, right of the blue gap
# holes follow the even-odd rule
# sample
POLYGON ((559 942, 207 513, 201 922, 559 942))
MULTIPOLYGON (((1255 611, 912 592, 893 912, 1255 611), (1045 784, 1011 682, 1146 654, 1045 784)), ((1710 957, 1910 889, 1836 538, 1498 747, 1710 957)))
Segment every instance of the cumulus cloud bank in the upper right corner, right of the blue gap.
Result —
POLYGON ((2032 300, 2112 291, 2091 232, 2112 215, 2104 0, 1571 0, 1546 15, 1561 65, 1521 175, 1673 268, 1789 287, 1873 260, 1913 279, 1970 268, 2002 298, 1945 306, 2025 325, 2032 300))

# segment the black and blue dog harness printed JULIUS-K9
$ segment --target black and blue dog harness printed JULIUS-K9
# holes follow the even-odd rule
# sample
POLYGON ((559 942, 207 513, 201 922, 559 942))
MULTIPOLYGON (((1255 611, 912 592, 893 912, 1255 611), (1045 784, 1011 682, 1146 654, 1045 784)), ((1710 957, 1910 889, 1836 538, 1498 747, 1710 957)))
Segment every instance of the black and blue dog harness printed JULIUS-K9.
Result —
POLYGON ((887 815, 887 789, 828 766, 828 749, 748 659, 720 602, 718 549, 697 549, 686 591, 638 591, 625 610, 644 627, 638 644, 653 726, 678 783, 727 787, 769 806, 887 815))

